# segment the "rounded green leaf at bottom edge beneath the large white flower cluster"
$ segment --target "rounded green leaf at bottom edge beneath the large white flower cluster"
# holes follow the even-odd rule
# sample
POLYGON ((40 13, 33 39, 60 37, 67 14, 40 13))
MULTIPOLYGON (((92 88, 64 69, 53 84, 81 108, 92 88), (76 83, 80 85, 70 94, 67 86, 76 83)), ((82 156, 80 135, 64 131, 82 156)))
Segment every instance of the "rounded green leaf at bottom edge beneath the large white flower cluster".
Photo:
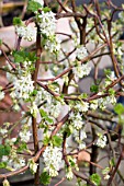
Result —
POLYGON ((43 185, 48 185, 50 183, 50 176, 47 172, 43 172, 40 176, 40 183, 43 185))

